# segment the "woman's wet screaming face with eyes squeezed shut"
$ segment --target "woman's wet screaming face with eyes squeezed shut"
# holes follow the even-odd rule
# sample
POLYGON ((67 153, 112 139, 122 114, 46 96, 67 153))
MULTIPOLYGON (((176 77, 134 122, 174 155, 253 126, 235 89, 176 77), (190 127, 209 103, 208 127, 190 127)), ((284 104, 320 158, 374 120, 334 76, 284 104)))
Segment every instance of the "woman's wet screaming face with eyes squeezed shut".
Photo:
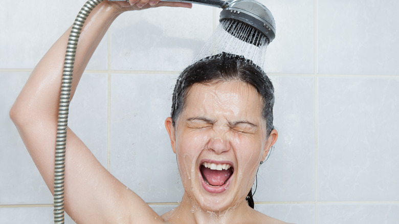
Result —
POLYGON ((165 122, 185 192, 209 211, 245 203, 277 139, 267 138, 260 95, 240 81, 194 84, 185 103, 175 129, 165 122))

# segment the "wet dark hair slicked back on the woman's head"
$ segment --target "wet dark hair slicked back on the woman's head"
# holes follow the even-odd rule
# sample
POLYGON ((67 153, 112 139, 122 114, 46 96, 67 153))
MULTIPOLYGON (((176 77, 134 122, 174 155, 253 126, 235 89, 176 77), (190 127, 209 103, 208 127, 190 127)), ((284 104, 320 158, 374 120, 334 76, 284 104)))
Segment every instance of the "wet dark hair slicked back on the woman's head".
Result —
MULTIPOLYGON (((174 86, 172 97, 172 124, 179 118, 184 109, 185 99, 190 87, 196 83, 211 84, 220 81, 241 81, 252 85, 262 97, 262 117, 266 121, 267 135, 273 127, 274 87, 269 77, 251 60, 243 56, 221 53, 199 60, 188 66, 179 76, 174 86)), ((254 208, 252 189, 248 193, 247 202, 254 208)))

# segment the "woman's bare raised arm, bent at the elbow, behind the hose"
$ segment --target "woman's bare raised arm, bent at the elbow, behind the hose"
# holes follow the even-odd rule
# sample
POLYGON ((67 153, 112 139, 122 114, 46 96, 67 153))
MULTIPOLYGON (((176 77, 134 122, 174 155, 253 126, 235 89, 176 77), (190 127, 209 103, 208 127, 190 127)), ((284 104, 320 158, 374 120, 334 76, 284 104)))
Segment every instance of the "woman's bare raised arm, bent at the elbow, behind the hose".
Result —
MULTIPOLYGON (((148 8, 158 1, 139 0, 135 6, 126 2, 103 2, 93 10, 79 38, 71 98, 88 61, 114 19, 124 11, 148 8)), ((158 4, 162 5, 191 6, 184 3, 158 4)), ((70 30, 36 65, 10 110, 10 117, 51 192, 58 101, 70 30)), ((149 220, 160 220, 154 219, 158 215, 139 196, 102 167, 70 129, 66 141, 64 198, 65 211, 79 223, 150 223, 149 220)))

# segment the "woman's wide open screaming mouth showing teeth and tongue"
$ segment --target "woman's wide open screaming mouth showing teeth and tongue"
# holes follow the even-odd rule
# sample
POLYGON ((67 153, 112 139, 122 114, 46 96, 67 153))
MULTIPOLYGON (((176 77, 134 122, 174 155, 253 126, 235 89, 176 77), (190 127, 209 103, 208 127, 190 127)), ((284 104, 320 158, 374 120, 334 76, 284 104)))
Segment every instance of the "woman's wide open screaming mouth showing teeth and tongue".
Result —
POLYGON ((227 163, 203 162, 200 171, 207 185, 221 187, 227 183, 234 172, 234 168, 227 163))

